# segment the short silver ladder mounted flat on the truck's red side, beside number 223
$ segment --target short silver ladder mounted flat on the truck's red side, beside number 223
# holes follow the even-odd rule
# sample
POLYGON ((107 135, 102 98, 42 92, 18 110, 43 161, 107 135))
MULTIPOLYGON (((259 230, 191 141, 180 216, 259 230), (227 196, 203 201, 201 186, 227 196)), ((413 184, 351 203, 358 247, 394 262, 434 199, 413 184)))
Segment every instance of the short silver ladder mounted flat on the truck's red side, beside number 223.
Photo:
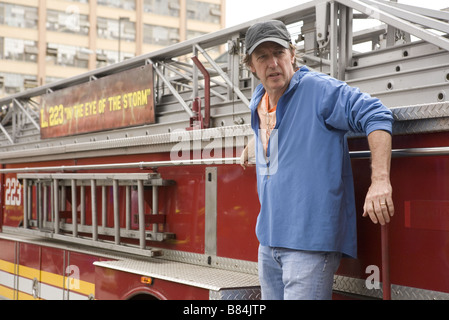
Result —
POLYGON ((160 231, 165 224, 165 215, 159 214, 158 190, 174 182, 162 179, 158 173, 22 173, 18 174, 18 179, 23 186, 21 229, 26 233, 125 252, 137 248, 150 256, 159 255, 160 251, 147 248, 147 240, 160 242, 175 236, 160 231), (90 217, 86 215, 88 188, 91 194, 90 217), (146 188, 152 189, 151 214, 145 213, 146 188), (98 189, 101 189, 101 224, 98 221, 98 189), (132 228, 132 190, 137 190, 138 196, 138 215, 135 215, 138 218, 138 230, 132 228), (125 192, 124 228, 120 220, 120 209, 123 208, 120 205, 120 191, 125 192), (108 226, 110 223, 107 221, 108 204, 111 202, 114 212, 112 227, 108 226), (70 204, 70 210, 67 210, 67 204, 70 204), (91 219, 91 224, 87 224, 87 218, 91 219), (146 229, 148 224, 152 225, 152 230, 146 229), (134 242, 138 239, 138 245, 133 245, 132 239, 134 242))

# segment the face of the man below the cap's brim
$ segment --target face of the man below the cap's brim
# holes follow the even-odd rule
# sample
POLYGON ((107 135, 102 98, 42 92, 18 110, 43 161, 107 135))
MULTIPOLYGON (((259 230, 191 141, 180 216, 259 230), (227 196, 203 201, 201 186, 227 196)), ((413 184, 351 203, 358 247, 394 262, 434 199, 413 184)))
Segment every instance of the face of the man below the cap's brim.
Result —
POLYGON ((295 73, 294 59, 289 49, 275 42, 264 42, 251 54, 250 69, 269 94, 282 94, 295 73))

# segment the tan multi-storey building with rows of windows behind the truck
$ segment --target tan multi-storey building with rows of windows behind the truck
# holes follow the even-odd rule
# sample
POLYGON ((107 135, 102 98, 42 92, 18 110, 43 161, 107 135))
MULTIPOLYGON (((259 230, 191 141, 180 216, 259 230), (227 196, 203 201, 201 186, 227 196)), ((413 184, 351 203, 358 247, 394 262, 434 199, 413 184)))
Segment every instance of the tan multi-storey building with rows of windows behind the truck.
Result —
POLYGON ((0 96, 225 27, 226 0, 0 0, 0 96))

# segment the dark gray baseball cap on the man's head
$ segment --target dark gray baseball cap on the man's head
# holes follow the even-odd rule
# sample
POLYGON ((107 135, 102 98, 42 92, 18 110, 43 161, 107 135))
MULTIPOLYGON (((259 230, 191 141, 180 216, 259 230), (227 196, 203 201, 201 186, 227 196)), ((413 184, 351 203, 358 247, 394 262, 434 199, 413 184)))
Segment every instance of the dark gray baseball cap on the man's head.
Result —
POLYGON ((258 45, 268 41, 276 42, 286 49, 289 48, 291 36, 282 21, 269 20, 252 25, 246 32, 246 53, 253 53, 258 45))

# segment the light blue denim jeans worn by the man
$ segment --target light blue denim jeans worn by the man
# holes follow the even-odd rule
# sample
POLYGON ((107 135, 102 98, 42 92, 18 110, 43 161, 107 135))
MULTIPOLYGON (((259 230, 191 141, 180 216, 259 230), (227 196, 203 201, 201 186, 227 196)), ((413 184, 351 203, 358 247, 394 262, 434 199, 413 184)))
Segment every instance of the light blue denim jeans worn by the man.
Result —
POLYGON ((330 300, 341 253, 259 246, 263 300, 330 300))

